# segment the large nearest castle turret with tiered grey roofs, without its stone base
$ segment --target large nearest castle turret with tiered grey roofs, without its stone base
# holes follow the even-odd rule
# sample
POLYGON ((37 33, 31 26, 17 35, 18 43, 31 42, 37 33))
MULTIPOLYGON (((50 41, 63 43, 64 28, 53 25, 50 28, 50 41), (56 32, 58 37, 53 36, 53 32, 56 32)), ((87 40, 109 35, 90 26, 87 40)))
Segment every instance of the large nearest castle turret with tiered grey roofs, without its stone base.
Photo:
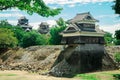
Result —
POLYGON ((89 12, 77 14, 68 20, 69 25, 61 33, 62 44, 104 44, 104 32, 96 26, 96 20, 89 12))

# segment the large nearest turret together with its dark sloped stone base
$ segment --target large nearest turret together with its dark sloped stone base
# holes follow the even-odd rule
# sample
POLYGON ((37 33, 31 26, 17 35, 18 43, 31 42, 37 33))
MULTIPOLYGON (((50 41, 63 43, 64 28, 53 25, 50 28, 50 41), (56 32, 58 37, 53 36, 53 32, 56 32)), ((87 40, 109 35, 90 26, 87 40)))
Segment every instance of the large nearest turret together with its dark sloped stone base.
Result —
POLYGON ((104 32, 96 25, 89 12, 77 14, 68 20, 69 25, 61 33, 65 46, 51 69, 55 76, 83 73, 102 69, 104 32))

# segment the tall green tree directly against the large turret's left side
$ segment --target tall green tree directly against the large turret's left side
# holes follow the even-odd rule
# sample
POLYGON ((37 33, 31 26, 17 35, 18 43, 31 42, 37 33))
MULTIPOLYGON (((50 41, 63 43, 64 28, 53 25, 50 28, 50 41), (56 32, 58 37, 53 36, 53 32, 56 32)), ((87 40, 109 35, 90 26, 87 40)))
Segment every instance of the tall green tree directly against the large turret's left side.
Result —
POLYGON ((50 44, 58 45, 61 43, 62 36, 60 35, 60 32, 62 32, 66 28, 66 23, 62 18, 59 18, 59 20, 56 21, 57 25, 55 27, 52 27, 50 29, 50 44))

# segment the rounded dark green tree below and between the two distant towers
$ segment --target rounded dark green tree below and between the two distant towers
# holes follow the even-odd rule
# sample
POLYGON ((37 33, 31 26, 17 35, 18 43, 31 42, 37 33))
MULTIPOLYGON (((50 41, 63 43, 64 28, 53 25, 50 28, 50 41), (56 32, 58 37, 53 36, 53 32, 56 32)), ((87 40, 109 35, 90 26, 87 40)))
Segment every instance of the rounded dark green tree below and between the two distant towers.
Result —
POLYGON ((29 47, 34 45, 45 45, 46 39, 43 35, 39 34, 38 32, 31 31, 27 32, 22 39, 22 47, 29 47))

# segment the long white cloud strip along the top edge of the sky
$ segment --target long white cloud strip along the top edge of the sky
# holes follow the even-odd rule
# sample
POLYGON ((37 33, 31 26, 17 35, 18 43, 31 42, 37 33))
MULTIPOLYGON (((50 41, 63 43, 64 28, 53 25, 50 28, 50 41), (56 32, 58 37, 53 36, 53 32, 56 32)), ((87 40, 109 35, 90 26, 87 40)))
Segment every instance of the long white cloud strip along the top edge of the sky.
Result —
POLYGON ((44 0, 46 4, 76 4, 76 3, 95 3, 95 2, 111 2, 113 0, 44 0))

